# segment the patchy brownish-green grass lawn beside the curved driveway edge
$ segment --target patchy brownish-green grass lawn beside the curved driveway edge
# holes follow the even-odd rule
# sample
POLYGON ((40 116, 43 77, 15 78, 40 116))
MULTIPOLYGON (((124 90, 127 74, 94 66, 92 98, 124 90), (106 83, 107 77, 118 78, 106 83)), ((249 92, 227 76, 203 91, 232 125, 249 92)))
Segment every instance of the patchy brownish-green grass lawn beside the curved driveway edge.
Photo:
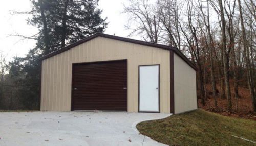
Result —
POLYGON ((144 121, 141 134, 168 145, 256 145, 256 121, 196 110, 165 119, 144 121))

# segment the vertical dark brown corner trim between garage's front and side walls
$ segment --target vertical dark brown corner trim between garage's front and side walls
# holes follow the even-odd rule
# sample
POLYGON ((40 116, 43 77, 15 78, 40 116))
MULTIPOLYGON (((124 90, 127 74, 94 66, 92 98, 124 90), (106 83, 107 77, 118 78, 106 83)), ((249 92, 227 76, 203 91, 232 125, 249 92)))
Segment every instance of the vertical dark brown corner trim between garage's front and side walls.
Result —
POLYGON ((174 114, 174 52, 170 50, 170 113, 174 114))

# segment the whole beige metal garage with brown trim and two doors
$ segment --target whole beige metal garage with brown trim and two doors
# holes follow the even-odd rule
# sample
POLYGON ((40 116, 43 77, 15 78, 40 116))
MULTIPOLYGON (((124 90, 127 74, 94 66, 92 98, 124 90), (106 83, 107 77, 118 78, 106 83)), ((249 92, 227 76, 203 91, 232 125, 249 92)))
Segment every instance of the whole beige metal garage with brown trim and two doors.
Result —
POLYGON ((99 33, 39 61, 41 111, 197 109, 197 68, 175 47, 99 33))

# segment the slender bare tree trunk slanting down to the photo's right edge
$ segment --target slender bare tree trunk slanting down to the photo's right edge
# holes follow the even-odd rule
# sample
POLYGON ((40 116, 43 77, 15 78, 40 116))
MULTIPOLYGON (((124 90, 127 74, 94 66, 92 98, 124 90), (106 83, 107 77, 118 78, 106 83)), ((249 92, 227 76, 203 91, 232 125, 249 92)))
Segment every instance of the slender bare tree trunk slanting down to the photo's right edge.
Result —
POLYGON ((247 80, 248 80, 249 90, 250 90, 251 99, 252 99, 253 111, 255 112, 256 111, 256 97, 255 97, 255 92, 254 92, 254 81, 252 79, 250 54, 249 54, 249 48, 248 48, 247 40, 246 40, 244 20, 243 20, 243 14, 242 14, 242 6, 241 6, 240 0, 238 0, 238 6, 239 6, 239 13, 240 13, 241 28, 242 28, 242 41, 243 41, 243 46, 244 46, 244 51, 245 51, 247 80))

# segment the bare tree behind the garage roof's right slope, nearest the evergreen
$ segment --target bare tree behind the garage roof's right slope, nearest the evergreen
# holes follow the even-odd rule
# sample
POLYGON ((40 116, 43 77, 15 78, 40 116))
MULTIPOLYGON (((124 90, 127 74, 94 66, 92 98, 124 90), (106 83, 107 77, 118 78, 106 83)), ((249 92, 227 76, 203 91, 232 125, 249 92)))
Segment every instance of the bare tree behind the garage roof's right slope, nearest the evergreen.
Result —
POLYGON ((124 5, 124 13, 130 16, 130 24, 126 26, 128 29, 132 29, 130 35, 137 33, 142 35, 145 41, 158 43, 162 32, 161 10, 156 13, 155 8, 149 4, 148 0, 129 0, 129 2, 128 6, 124 5), (137 22, 137 25, 134 25, 134 22, 137 22))

